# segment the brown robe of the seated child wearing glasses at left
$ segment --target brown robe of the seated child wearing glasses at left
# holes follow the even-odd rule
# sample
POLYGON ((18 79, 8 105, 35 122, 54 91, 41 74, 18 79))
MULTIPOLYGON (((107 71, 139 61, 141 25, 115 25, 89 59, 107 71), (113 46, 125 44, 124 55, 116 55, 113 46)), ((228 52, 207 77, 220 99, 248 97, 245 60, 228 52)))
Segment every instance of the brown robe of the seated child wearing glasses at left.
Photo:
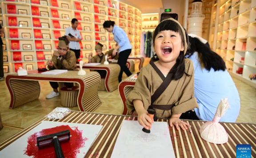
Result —
MULTIPOLYGON (((76 55, 74 51, 68 51, 66 56, 64 56, 61 60, 57 59, 57 56, 53 55, 52 63, 56 69, 78 71, 76 68, 76 55)), ((53 70, 55 69, 54 67, 48 68, 49 70, 53 70)))

